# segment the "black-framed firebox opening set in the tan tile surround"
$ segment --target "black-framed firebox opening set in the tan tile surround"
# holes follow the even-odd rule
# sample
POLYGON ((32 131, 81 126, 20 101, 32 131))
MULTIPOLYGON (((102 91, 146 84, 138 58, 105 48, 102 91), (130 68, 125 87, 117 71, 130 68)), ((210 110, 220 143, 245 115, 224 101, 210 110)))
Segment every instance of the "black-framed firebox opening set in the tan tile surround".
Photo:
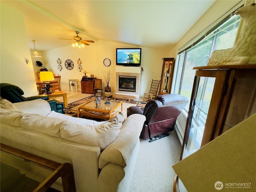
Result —
POLYGON ((136 76, 119 76, 118 90, 136 92, 136 76))

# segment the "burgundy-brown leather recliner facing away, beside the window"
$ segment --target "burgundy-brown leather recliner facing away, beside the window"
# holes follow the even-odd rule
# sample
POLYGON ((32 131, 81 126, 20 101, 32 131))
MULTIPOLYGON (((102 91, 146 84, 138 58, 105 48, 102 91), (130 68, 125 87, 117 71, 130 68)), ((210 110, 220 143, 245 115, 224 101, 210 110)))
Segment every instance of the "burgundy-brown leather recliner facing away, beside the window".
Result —
POLYGON ((140 134, 140 137, 146 140, 174 130, 176 119, 187 103, 188 98, 180 94, 159 95, 147 102, 144 108, 127 108, 127 116, 134 113, 146 116, 140 134))

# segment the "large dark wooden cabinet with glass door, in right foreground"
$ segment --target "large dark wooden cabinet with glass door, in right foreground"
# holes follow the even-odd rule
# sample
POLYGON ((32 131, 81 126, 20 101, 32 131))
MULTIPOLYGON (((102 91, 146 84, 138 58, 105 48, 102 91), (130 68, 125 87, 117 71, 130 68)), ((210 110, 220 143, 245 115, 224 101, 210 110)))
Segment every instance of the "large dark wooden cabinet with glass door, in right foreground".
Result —
MULTIPOLYGON (((256 113, 256 64, 194 69, 180 160, 256 113)), ((176 177, 174 191, 179 190, 186 191, 176 177)))

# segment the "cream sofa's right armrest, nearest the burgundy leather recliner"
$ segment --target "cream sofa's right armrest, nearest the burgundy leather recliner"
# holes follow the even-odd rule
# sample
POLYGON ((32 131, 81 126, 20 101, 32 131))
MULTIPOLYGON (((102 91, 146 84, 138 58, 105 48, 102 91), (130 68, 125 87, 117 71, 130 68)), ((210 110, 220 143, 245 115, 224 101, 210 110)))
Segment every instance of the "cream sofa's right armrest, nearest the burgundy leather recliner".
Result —
POLYGON ((126 166, 126 163, 129 162, 132 151, 138 142, 145 120, 146 118, 144 115, 132 114, 123 122, 117 138, 100 154, 100 169, 109 162, 124 167, 126 166))

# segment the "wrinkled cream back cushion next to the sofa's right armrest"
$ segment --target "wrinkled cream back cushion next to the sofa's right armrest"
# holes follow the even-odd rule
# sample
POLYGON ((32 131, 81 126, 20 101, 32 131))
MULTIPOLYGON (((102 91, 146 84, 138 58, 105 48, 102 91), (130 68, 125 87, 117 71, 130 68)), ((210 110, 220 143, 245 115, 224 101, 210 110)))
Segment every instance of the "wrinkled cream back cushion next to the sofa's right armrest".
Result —
POLYGON ((100 150, 104 150, 118 136, 123 121, 122 113, 99 125, 82 126, 66 121, 62 123, 60 134, 66 140, 99 146, 100 150))

